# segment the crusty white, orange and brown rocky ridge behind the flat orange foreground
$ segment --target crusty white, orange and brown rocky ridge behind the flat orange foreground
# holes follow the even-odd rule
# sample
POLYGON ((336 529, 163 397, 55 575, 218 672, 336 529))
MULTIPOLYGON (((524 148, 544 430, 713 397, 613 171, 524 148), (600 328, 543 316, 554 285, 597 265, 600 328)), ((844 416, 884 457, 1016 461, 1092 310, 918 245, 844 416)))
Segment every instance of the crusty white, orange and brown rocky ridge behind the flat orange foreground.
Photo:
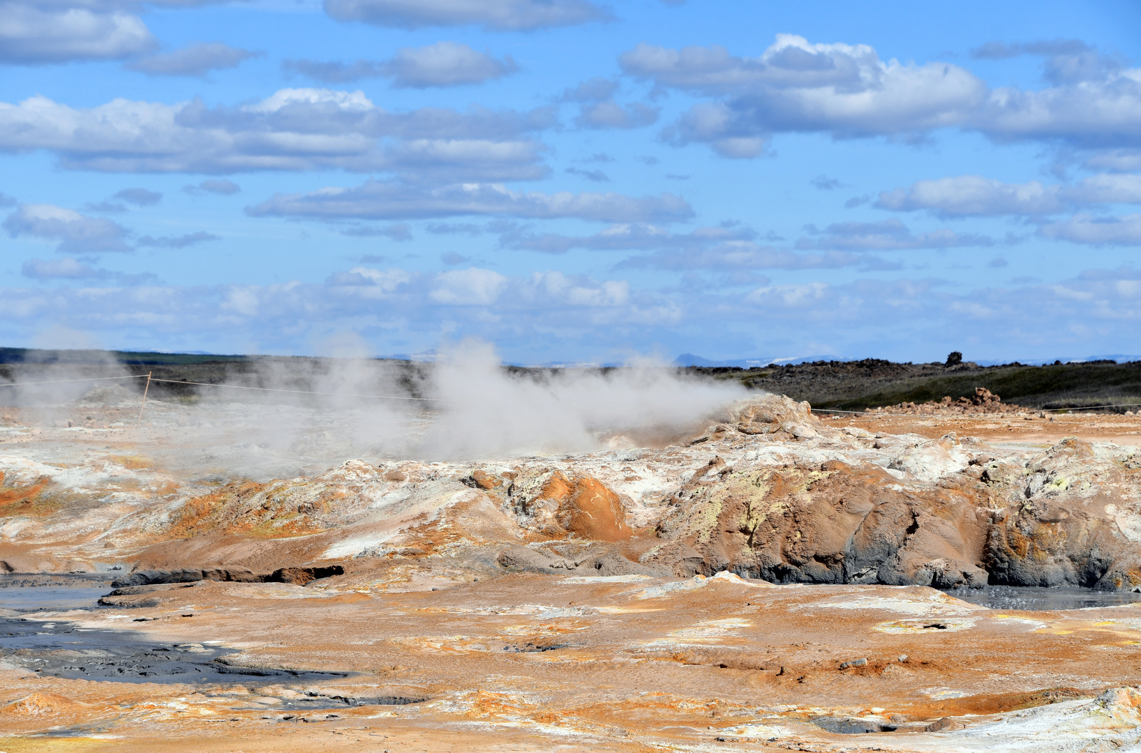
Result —
MULTIPOLYGON (((981 410, 998 402, 985 392, 981 410)), ((9 572, 122 562, 265 580, 330 560, 347 578, 447 560, 456 572, 1141 589, 1135 449, 873 434, 774 395, 729 406, 661 450, 348 460, 221 486, 94 453, 63 468, 8 455, 0 470, 9 572)))

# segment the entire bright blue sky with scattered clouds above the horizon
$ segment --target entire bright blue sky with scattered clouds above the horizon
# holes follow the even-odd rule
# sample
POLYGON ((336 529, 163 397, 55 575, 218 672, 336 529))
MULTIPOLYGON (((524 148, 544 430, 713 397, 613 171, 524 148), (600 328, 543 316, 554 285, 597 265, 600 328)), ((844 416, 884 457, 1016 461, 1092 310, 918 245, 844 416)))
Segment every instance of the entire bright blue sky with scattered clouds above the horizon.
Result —
POLYGON ((0 0, 0 341, 1139 353, 1141 6, 0 0))

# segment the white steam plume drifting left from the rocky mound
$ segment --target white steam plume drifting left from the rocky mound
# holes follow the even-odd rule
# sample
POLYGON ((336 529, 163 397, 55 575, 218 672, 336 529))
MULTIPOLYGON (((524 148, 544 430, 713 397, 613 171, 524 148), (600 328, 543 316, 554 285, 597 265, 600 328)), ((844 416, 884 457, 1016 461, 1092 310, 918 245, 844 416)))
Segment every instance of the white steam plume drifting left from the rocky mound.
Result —
MULTIPOLYGON (((154 383, 138 427, 145 379, 102 382, 94 388, 91 383, 35 392, 21 387, 19 400, 51 401, 51 410, 62 414, 67 407, 60 403, 86 392, 71 403, 88 420, 75 420, 75 427, 112 432, 118 442, 131 442, 135 451, 176 473, 224 481, 309 475, 349 458, 478 460, 661 447, 746 394, 737 383, 687 377, 659 362, 504 369, 482 342, 451 346, 434 365, 361 358, 351 339, 330 350, 339 358, 227 366, 225 383, 259 390, 154 383), (94 423, 90 412, 99 414, 94 423)), ((217 380, 218 367, 209 368, 180 370, 189 382, 217 380)), ((58 374, 71 378, 78 369, 58 374)), ((16 404, 3 394, 0 403, 16 404)), ((46 416, 44 410, 34 415, 46 416)), ((66 423, 56 418, 43 425, 66 423)), ((113 439, 91 441, 104 437, 113 439)))

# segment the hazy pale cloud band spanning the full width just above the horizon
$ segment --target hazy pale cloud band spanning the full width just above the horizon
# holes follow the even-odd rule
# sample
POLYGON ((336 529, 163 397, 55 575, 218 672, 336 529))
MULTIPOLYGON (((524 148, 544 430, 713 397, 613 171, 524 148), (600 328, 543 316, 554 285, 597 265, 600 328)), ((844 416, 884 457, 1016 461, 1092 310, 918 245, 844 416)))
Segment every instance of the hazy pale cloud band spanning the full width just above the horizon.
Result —
MULTIPOLYGON (((621 275, 541 271, 505 276, 486 305, 432 300, 432 290, 446 288, 432 272, 355 267, 345 275, 353 284, 338 278, 65 288, 60 280, 59 289, 0 289, 0 318, 21 335, 66 326, 105 341, 183 342, 212 352, 289 351, 299 338, 345 329, 371 333, 378 352, 429 350, 442 335, 477 336, 511 343, 509 358, 524 362, 608 360, 630 342, 661 342, 680 352, 691 350, 694 338, 739 351, 742 342, 754 342, 742 341, 742 333, 756 333, 759 321, 764 338, 755 346, 768 351, 760 355, 874 353, 898 360, 916 359, 915 343, 924 344, 919 357, 925 360, 962 349, 964 326, 979 333, 979 358, 1008 360, 1118 352, 1141 326, 1141 270, 1127 265, 1049 284, 1002 285, 990 275, 973 289, 895 275, 845 284, 758 279, 731 289, 687 276, 682 285, 657 289, 621 275), (155 308, 156 300, 163 305, 155 308)), ((736 279, 748 277, 759 276, 736 279)))

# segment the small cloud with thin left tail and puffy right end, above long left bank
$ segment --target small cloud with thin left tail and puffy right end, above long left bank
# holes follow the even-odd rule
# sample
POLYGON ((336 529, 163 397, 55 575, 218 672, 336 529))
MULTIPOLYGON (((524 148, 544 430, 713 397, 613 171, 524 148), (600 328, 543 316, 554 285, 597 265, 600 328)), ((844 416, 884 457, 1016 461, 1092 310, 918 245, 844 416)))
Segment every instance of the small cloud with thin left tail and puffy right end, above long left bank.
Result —
POLYGON ((298 73, 325 83, 386 77, 404 89, 462 87, 501 79, 518 71, 510 56, 502 60, 458 42, 405 47, 388 60, 357 60, 353 64, 317 60, 285 60, 288 73, 298 73))

